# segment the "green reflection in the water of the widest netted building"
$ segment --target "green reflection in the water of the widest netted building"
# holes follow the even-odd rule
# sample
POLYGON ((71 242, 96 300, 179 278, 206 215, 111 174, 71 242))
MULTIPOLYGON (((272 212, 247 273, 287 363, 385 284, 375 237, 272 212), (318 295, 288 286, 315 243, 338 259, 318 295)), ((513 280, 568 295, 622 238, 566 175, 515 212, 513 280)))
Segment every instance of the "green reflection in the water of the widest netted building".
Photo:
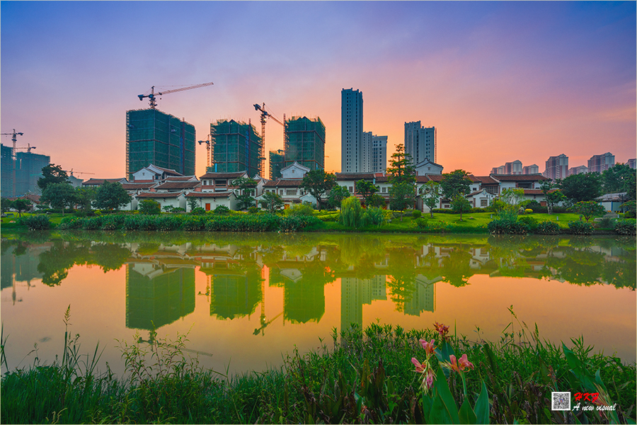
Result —
POLYGON ((126 265, 126 327, 159 329, 195 311, 195 267, 157 261, 126 265))

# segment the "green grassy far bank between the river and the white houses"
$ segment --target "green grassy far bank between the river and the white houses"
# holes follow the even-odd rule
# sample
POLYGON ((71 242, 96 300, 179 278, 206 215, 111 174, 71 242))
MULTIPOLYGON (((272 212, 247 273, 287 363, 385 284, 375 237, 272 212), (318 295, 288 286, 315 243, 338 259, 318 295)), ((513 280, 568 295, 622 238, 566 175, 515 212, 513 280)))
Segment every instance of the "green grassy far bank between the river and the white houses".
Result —
MULTIPOLYGON (((163 213, 161 215, 140 215, 137 212, 101 215, 98 217, 75 217, 74 215, 25 215, 23 220, 4 217, 2 228, 13 229, 84 229, 84 230, 125 230, 125 231, 174 231, 190 232, 381 232, 381 233, 456 233, 489 234, 488 225, 497 217, 490 212, 474 212, 460 216, 437 212, 434 217, 418 212, 384 212, 381 225, 367 225, 352 228, 338 221, 339 212, 314 211, 313 215, 279 215, 269 213, 248 214, 230 212, 218 215, 213 212, 204 215, 163 213), (29 220, 32 220, 29 222, 29 220)), ((553 232, 549 234, 634 234, 635 220, 610 222, 612 227, 593 227, 592 223, 581 222, 573 213, 532 214, 520 216, 523 223, 522 234, 543 233, 538 225, 549 224, 553 232), (573 227, 573 225, 578 225, 573 227), (536 229, 536 227, 538 229, 536 229), (621 229, 620 229, 621 228, 621 229)), ((608 225, 608 223, 605 223, 608 225)), ((546 226, 545 226, 546 227, 546 226)), ((507 233, 507 231, 504 231, 507 233)), ((520 225, 512 230, 520 233, 520 225)))

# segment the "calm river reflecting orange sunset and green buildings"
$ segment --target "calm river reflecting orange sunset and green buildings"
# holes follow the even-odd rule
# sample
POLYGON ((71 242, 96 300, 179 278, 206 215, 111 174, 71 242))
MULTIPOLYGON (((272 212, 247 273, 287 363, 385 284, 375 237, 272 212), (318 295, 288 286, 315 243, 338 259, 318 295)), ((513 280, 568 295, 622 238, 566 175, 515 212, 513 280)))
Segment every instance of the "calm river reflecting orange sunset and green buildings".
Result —
POLYGON ((510 322, 520 329, 512 306, 541 338, 582 335, 634 362, 635 252, 616 237, 3 234, 1 321, 9 368, 62 354, 70 305, 81 351, 105 348, 101 370, 121 374, 117 341, 148 344, 154 329, 188 334, 201 365, 237 373, 330 344, 351 323, 441 322, 498 341, 510 322))

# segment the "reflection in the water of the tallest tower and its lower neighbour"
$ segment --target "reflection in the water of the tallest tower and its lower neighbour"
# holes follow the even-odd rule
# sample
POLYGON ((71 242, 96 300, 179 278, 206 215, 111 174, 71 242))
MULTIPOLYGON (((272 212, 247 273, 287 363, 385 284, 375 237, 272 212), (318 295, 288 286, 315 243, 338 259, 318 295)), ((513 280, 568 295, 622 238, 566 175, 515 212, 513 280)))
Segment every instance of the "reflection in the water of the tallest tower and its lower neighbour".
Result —
POLYGON ((340 278, 340 329, 355 323, 362 326, 362 306, 386 300, 386 276, 371 279, 340 278))

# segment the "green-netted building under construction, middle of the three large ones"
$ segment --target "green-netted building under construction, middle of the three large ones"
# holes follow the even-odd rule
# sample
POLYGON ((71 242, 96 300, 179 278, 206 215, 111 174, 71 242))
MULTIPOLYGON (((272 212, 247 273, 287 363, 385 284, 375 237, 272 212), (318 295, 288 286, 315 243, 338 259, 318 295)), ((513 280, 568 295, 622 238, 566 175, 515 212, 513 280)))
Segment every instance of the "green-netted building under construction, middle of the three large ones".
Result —
POLYGON ((212 166, 210 173, 247 171, 248 176, 263 177, 263 143, 251 123, 217 120, 210 124, 212 166))

